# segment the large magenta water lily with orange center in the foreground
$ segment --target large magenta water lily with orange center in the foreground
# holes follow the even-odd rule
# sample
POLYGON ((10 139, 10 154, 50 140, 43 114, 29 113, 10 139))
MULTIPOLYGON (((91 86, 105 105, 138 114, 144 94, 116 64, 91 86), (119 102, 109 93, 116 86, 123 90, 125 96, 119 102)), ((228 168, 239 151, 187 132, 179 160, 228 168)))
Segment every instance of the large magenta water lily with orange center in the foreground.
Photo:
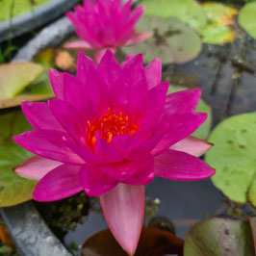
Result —
POLYGON ((107 51, 100 64, 80 52, 76 77, 50 70, 56 95, 23 102, 35 130, 13 140, 37 154, 15 168, 36 179, 38 201, 84 191, 99 196, 108 225, 133 255, 141 234, 144 185, 155 176, 194 181, 215 170, 197 158, 211 147, 190 135, 207 118, 194 112, 201 91, 166 95, 161 61, 143 68, 142 55, 118 64, 107 51))

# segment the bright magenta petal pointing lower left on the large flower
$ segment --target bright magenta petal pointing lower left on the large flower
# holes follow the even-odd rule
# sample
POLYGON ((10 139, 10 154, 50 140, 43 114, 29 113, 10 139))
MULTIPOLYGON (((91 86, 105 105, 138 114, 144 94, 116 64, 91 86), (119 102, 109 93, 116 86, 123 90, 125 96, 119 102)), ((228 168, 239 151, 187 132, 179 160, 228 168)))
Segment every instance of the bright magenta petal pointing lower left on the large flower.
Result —
POLYGON ((48 172, 39 180, 33 197, 40 202, 63 199, 83 191, 78 178, 80 166, 62 165, 48 172))

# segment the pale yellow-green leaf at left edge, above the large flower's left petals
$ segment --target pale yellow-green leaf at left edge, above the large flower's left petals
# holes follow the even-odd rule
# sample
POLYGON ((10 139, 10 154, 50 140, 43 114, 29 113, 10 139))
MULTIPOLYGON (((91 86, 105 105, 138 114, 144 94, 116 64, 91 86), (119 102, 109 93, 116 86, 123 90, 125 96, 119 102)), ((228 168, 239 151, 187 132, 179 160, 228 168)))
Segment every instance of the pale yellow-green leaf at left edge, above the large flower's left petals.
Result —
POLYGON ((40 64, 14 63, 0 65, 0 100, 12 98, 24 90, 44 71, 40 64))

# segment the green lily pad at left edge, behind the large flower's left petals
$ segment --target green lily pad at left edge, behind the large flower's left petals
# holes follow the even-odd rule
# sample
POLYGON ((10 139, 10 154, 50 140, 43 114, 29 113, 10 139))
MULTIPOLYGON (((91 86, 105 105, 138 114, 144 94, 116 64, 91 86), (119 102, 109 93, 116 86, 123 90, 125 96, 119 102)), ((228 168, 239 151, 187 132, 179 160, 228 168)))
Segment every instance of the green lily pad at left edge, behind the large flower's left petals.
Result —
POLYGON ((33 154, 13 141, 13 135, 31 130, 21 111, 0 115, 0 207, 32 199, 37 182, 23 179, 13 172, 33 154))

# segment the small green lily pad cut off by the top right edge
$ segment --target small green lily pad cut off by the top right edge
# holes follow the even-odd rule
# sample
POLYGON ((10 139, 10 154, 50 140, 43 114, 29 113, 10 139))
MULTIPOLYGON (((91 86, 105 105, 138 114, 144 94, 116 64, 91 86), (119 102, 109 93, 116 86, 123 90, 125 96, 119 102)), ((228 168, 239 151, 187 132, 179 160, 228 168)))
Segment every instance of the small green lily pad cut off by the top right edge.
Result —
POLYGON ((256 2, 246 4, 239 13, 240 26, 256 39, 256 2))

